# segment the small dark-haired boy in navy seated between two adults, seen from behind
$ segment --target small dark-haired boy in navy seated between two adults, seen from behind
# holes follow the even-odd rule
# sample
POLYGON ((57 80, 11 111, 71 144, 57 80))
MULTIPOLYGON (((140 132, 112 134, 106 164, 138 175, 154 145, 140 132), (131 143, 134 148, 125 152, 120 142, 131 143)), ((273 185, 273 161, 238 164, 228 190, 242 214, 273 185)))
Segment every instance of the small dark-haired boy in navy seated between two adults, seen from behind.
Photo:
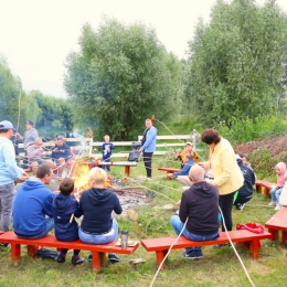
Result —
MULTIPOLYGON (((59 241, 70 242, 78 240, 78 225, 75 216, 79 217, 82 212, 78 202, 72 193, 74 190, 74 180, 65 178, 60 184, 60 193, 53 200, 53 216, 55 221, 55 236, 59 241)), ((66 259, 66 248, 62 248, 56 262, 64 263, 66 259)), ((79 258, 79 251, 74 249, 72 264, 82 264, 85 259, 79 258)))

